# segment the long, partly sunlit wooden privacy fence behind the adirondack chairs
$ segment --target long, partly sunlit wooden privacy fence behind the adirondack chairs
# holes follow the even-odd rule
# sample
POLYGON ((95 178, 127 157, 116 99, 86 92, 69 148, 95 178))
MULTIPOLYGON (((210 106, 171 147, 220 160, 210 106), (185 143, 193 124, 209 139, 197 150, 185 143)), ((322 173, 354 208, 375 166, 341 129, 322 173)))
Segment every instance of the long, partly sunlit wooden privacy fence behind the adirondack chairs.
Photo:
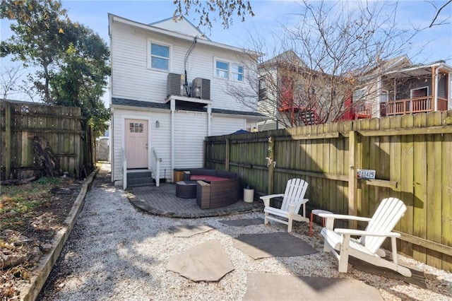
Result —
POLYGON ((452 271, 452 111, 207 137, 205 166, 262 194, 302 177, 308 208, 334 213, 369 217, 396 196, 408 206, 400 252, 452 271), (357 179, 358 169, 376 179, 357 179))

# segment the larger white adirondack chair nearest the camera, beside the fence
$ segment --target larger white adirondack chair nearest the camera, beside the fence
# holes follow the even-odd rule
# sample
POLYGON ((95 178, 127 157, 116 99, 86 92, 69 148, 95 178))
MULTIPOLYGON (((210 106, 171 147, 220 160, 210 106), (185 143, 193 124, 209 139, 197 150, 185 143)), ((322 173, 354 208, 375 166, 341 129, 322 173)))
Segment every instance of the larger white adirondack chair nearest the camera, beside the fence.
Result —
POLYGON ((350 255, 369 264, 391 268, 403 276, 411 277, 411 271, 408 268, 397 264, 396 237, 400 237, 400 233, 391 232, 406 210, 407 207, 403 201, 388 198, 381 201, 372 218, 321 213, 319 216, 326 218, 326 227, 321 230, 321 235, 325 239, 323 251, 333 253, 339 261, 338 270, 342 273, 347 273, 350 255), (361 220, 369 223, 365 230, 333 229, 335 219, 361 220), (360 237, 355 239, 350 235, 360 237), (386 237, 391 237, 393 261, 383 259, 386 254, 383 249, 380 249, 386 237))

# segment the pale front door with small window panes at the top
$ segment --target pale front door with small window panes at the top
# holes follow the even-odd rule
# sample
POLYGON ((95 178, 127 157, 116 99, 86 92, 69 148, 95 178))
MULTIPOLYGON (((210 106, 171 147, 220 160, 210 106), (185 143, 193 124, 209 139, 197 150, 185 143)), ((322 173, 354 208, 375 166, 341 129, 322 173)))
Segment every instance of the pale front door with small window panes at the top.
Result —
POLYGON ((148 120, 126 119, 127 168, 148 168, 148 120))

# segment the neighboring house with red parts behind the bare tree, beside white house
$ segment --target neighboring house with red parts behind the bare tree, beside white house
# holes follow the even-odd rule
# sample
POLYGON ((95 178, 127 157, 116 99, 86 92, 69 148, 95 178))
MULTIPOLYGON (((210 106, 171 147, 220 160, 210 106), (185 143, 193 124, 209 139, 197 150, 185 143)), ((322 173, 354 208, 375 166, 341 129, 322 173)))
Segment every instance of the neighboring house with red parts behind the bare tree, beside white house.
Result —
POLYGON ((331 119, 328 103, 341 103, 331 88, 330 74, 309 69, 288 50, 259 65, 259 112, 271 120, 258 124, 260 131, 322 124, 331 119))

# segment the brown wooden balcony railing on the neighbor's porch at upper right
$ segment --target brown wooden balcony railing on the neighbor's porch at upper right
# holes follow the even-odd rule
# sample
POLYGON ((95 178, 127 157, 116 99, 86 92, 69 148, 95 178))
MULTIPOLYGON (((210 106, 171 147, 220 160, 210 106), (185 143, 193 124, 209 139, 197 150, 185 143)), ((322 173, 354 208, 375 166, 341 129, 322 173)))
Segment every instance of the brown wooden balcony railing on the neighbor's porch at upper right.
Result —
MULTIPOLYGON (((438 98, 438 111, 447 110, 446 98, 438 98)), ((380 103, 381 116, 394 116, 434 111, 432 96, 405 98, 380 103)))

